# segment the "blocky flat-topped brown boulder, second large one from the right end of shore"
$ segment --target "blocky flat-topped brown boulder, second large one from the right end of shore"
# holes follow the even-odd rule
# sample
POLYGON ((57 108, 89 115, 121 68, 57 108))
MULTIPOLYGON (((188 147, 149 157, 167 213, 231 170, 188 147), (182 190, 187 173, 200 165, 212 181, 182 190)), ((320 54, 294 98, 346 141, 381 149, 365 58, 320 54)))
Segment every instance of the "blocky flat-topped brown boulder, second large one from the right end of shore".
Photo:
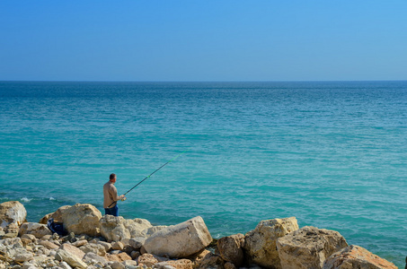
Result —
POLYGON ((338 231, 306 226, 279 238, 277 247, 284 269, 323 268, 325 259, 348 243, 338 231))

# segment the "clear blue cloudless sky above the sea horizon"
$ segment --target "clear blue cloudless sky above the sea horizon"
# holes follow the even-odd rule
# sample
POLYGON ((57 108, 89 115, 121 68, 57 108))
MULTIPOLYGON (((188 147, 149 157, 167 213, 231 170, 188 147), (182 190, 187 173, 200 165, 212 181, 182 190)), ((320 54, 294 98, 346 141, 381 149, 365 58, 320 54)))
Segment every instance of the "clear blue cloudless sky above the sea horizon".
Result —
POLYGON ((0 80, 407 80, 407 1, 0 1, 0 80))

